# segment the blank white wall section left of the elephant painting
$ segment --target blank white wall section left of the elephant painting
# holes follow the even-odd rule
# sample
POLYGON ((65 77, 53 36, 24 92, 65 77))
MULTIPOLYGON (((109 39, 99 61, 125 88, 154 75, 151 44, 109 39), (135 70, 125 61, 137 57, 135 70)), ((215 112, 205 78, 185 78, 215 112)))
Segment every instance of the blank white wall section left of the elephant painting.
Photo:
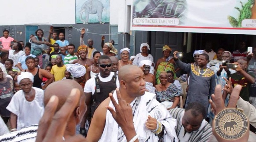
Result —
POLYGON ((75 0, 0 0, 0 5, 0 25, 75 24, 75 0))

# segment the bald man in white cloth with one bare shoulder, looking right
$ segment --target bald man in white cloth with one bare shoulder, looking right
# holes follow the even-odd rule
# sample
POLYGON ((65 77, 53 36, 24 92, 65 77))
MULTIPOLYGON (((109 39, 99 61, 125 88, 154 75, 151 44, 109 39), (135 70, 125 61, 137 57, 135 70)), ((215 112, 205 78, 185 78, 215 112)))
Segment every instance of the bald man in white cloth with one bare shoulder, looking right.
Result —
MULTIPOLYGON (((175 127, 177 120, 173 119, 168 111, 156 99, 155 94, 145 92, 144 73, 139 67, 126 65, 120 68, 118 73, 120 88, 113 93, 117 103, 122 103, 124 98, 127 105, 132 106, 134 126, 136 135, 132 139, 126 139, 114 118, 113 109, 107 111, 109 107, 114 108, 116 102, 110 102, 106 98, 96 109, 92 119, 87 140, 89 142, 134 142, 137 139, 143 142, 177 142, 175 127), (120 90, 120 96, 117 95, 120 90), (120 102, 118 102, 120 101, 120 102)), ((110 94, 111 95, 111 94, 110 94)), ((137 141, 136 141, 137 142, 137 141)))

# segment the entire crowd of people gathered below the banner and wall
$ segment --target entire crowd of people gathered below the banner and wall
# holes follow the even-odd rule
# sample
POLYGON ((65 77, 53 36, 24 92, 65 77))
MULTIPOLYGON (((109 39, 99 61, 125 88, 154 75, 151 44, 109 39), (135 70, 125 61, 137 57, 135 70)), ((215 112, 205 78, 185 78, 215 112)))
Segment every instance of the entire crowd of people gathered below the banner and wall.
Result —
POLYGON ((64 140, 80 134, 75 139, 88 142, 207 142, 215 138, 212 120, 229 102, 244 110, 256 132, 256 47, 247 53, 245 42, 233 54, 223 48, 216 54, 208 42, 192 63, 165 45, 154 62, 147 43, 131 56, 102 36, 97 51, 94 40, 84 43, 85 29, 77 50, 52 30, 46 40, 38 29, 25 45, 3 33, 0 142, 42 141, 60 122, 64 140))

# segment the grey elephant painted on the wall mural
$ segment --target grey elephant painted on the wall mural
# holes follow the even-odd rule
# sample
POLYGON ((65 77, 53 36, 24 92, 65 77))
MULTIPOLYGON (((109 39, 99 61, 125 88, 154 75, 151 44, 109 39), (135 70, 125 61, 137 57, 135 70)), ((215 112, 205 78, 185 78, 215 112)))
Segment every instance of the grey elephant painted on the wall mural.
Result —
POLYGON ((90 14, 97 14, 98 21, 102 23, 102 11, 103 11, 103 4, 98 0, 87 0, 80 11, 80 19, 83 21, 84 24, 88 24, 89 15, 90 14), (83 12, 85 13, 85 19, 82 18, 83 12))

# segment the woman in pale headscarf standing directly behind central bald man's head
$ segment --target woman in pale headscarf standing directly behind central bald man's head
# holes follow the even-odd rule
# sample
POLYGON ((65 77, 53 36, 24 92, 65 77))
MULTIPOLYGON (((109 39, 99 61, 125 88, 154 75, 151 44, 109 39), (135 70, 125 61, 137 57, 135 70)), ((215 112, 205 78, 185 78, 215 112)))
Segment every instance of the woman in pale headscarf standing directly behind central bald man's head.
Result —
POLYGON ((118 70, 124 65, 132 65, 132 61, 129 61, 130 49, 123 48, 120 50, 121 59, 118 61, 118 70))

